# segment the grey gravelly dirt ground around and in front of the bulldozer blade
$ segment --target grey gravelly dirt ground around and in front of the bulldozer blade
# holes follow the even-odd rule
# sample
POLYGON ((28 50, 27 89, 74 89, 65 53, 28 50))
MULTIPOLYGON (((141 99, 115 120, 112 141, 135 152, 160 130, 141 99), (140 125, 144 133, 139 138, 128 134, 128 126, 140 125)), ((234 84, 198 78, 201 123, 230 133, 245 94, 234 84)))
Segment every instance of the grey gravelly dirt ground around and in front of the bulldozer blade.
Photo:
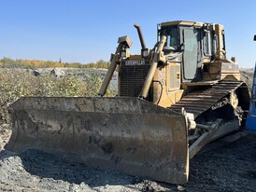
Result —
POLYGON ((7 125, 0 127, 0 191, 256 191, 255 134, 208 145, 192 158, 189 183, 177 186, 92 169, 38 150, 16 154, 3 148, 10 132, 7 125))

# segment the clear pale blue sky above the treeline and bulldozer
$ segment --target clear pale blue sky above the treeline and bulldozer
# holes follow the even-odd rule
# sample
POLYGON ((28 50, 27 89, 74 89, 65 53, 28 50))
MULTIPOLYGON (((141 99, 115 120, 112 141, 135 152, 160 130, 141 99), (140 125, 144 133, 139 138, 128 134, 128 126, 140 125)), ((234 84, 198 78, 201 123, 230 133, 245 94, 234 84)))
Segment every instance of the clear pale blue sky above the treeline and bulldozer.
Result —
POLYGON ((122 35, 140 53, 135 23, 152 48, 157 23, 183 20, 223 24, 228 59, 245 68, 256 61, 255 0, 0 0, 0 7, 0 58, 109 61, 122 35))

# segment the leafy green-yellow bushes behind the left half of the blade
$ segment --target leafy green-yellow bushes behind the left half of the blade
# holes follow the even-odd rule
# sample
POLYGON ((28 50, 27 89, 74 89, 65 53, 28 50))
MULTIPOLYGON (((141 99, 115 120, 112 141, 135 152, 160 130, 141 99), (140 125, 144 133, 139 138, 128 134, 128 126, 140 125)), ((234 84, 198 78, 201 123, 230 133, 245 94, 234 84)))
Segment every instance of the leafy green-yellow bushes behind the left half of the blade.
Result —
MULTIPOLYGON (((84 81, 76 75, 55 78, 51 75, 35 76, 27 70, 0 70, 0 122, 8 123, 7 106, 24 96, 33 97, 91 97, 96 96, 102 83, 102 76, 91 72, 84 81)), ((113 86, 107 96, 116 93, 113 86)))

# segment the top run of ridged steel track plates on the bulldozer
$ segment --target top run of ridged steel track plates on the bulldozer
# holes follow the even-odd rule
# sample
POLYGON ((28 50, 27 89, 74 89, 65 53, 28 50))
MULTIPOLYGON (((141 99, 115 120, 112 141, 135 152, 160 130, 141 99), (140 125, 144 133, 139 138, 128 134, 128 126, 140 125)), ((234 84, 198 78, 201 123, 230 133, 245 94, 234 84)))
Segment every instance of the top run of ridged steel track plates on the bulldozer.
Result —
POLYGON ((189 93, 169 108, 180 113, 181 108, 184 107, 186 112, 192 113, 196 118, 243 84, 242 81, 219 81, 210 89, 189 93))

